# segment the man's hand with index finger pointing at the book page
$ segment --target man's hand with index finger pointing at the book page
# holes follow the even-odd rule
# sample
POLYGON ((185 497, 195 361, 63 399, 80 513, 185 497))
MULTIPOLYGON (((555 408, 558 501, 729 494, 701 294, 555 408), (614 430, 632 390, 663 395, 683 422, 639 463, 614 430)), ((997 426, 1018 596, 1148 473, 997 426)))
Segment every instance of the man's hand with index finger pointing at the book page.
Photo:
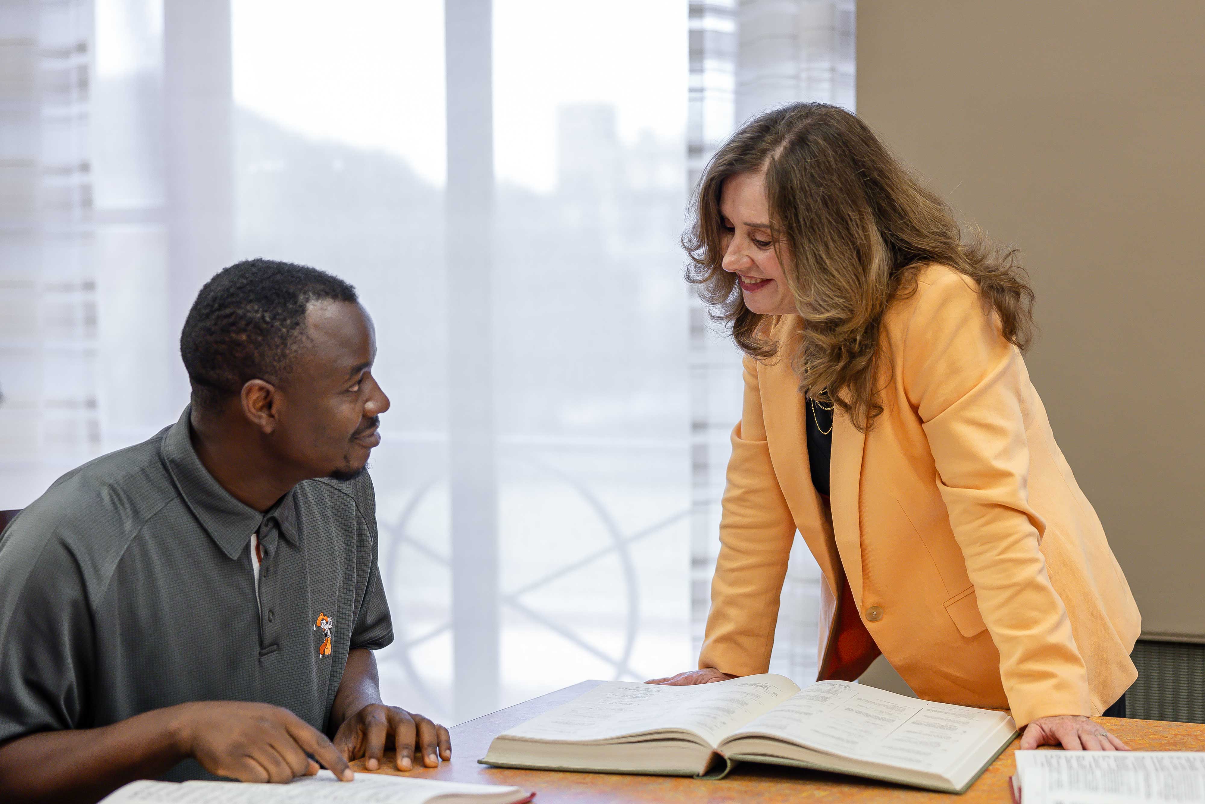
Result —
POLYGON ((174 708, 170 726, 181 752, 212 774, 239 781, 288 782, 318 765, 351 781, 347 759, 322 732, 281 706, 207 700, 174 708))

